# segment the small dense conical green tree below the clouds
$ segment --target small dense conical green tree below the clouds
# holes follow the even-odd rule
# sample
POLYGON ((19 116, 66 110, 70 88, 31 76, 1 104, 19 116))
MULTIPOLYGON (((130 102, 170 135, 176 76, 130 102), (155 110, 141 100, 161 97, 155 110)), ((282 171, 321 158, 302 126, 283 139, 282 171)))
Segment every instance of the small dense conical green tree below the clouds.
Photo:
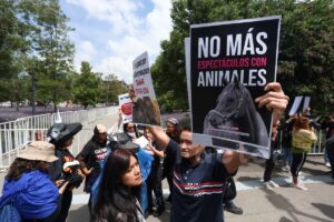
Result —
POLYGON ((91 71, 89 62, 81 62, 80 74, 76 77, 72 88, 73 102, 82 104, 85 109, 88 105, 96 105, 100 81, 100 75, 91 71))

